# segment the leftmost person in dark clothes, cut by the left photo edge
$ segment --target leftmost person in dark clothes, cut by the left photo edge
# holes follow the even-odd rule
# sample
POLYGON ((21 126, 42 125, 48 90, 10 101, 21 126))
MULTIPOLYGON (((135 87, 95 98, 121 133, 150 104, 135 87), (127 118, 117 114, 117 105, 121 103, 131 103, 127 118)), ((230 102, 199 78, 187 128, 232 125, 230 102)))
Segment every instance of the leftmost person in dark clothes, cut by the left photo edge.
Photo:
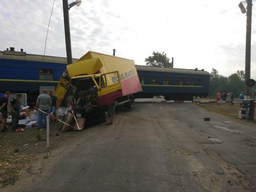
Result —
POLYGON ((8 106, 8 97, 10 96, 10 92, 7 91, 5 92, 5 95, 3 97, 0 97, 0 112, 2 113, 2 129, 1 132, 7 132, 7 128, 5 126, 6 119, 8 117, 8 111, 7 111, 7 106, 8 106))

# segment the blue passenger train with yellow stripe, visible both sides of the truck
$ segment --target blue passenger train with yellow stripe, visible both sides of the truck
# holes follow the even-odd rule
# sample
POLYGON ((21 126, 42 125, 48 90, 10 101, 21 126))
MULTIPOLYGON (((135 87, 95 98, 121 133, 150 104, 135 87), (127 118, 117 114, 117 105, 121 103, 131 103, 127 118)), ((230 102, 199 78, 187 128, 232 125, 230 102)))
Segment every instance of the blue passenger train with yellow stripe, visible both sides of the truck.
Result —
MULTIPOLYGON (((56 87, 66 65, 65 57, 0 51, 0 93, 27 93, 27 103, 35 103, 39 87, 56 87)), ((183 100, 208 95, 209 73, 206 71, 149 66, 136 66, 136 69, 142 98, 163 95, 167 100, 183 100)))

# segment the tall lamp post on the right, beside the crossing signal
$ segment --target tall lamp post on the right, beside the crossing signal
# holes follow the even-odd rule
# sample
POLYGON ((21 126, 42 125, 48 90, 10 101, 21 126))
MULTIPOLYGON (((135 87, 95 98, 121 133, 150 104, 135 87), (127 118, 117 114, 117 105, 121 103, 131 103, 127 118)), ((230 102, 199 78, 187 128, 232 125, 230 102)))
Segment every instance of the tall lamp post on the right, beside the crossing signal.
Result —
MULTIPOLYGON (((242 13, 247 13, 246 17, 246 44, 245 44, 245 82, 250 79, 251 73, 251 12, 252 12, 252 0, 247 0, 246 2, 240 2, 239 8, 242 13), (244 4, 247 3, 247 9, 245 9, 244 4)), ((246 84, 246 93, 248 97, 250 95, 250 88, 246 84)))

